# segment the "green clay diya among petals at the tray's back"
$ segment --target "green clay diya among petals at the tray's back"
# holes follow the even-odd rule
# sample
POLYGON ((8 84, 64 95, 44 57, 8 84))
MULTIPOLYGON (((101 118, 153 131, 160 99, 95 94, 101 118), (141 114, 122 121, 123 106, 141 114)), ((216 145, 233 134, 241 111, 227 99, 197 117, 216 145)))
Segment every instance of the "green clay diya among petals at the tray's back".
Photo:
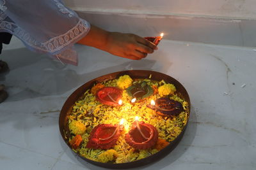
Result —
POLYGON ((149 97, 154 93, 154 90, 152 89, 152 87, 147 85, 146 81, 136 83, 128 87, 126 91, 130 97, 138 101, 140 101, 141 99, 145 99, 146 97, 149 97))

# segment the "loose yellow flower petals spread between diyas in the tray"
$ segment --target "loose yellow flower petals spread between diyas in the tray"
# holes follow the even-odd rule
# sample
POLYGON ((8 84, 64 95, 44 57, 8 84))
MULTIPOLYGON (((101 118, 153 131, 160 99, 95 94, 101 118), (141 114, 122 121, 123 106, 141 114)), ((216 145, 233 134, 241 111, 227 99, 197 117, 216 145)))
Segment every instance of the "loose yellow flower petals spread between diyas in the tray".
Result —
MULTIPOLYGON (((116 87, 117 80, 118 79, 105 81, 102 84, 106 87, 116 87)), ((161 87, 161 85, 165 84, 164 81, 152 81, 149 79, 136 81, 147 81, 148 85, 156 87, 161 87)), ((135 81, 133 81, 133 83, 135 83, 135 81)), ((158 152, 159 150, 156 148, 134 150, 134 148, 125 142, 124 136, 125 133, 129 131, 129 127, 132 122, 134 122, 136 116, 140 117, 140 121, 154 125, 159 132, 159 138, 165 139, 169 143, 179 136, 188 121, 188 103, 174 93, 170 99, 182 103, 184 111, 176 117, 162 117, 157 115, 154 110, 147 108, 147 104, 150 103, 151 99, 156 101, 159 97, 161 97, 159 94, 155 94, 140 103, 132 104, 130 103, 131 97, 129 97, 124 90, 122 95, 123 105, 120 107, 113 107, 105 106, 99 103, 99 101, 96 101, 95 96, 90 92, 90 89, 88 89, 83 97, 74 104, 72 113, 68 115, 68 124, 77 120, 86 125, 85 132, 81 134, 83 143, 76 150, 73 149, 74 152, 79 153, 87 159, 98 162, 112 162, 114 164, 140 160, 158 152), (111 150, 106 151, 86 148, 93 127, 99 124, 119 124, 122 118, 125 119, 125 132, 118 138, 116 145, 111 150)), ((71 136, 69 140, 75 136, 75 134, 70 134, 71 136)))

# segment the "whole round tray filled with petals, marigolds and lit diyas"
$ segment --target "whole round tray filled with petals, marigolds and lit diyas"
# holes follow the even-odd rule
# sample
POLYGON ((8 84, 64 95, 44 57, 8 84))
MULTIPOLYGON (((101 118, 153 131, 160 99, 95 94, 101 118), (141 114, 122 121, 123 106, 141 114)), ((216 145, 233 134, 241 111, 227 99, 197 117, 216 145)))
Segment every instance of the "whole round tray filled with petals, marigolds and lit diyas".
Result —
POLYGON ((97 166, 130 168, 164 157, 187 127, 190 101, 171 76, 132 70, 106 74, 79 87, 63 105, 65 143, 97 166))

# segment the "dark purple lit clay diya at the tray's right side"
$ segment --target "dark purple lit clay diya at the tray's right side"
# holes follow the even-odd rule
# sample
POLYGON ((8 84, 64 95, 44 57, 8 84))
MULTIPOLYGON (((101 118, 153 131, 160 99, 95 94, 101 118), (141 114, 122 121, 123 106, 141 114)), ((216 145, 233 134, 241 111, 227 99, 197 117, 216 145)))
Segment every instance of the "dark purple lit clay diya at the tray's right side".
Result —
POLYGON ((161 97, 156 100, 156 103, 152 100, 147 107, 156 110, 157 114, 165 117, 176 116, 183 111, 183 106, 181 103, 169 99, 168 97, 161 97))

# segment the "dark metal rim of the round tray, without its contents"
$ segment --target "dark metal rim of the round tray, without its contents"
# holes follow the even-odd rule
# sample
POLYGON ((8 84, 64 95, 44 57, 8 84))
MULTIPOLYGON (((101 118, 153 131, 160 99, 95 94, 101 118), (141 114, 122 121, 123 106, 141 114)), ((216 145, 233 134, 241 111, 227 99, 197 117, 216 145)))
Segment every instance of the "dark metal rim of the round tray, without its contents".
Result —
MULTIPOLYGON (((65 132, 68 131, 68 113, 72 110, 72 106, 76 103, 76 101, 83 96, 84 92, 86 90, 91 89, 95 83, 100 83, 103 81, 108 81, 108 80, 113 80, 115 78, 118 78, 119 76, 123 76, 124 74, 129 75, 132 79, 133 78, 148 78, 151 74, 151 80, 156 80, 156 81, 161 81, 164 80, 166 83, 172 83, 177 91, 176 93, 178 96, 183 99, 184 101, 188 102, 188 118, 190 114, 190 100, 189 100, 189 95, 186 89, 182 86, 179 81, 175 80, 171 76, 168 76, 163 73, 159 73, 156 71, 147 71, 147 70, 131 70, 131 71, 119 71, 116 73, 110 73, 106 74, 104 76, 100 76, 98 78, 95 78, 91 81, 88 81, 81 87, 79 87, 76 91, 74 91, 67 99, 65 104, 63 105, 61 112, 60 112, 60 118, 59 118, 59 127, 60 127, 60 133, 62 138, 64 139, 65 143, 67 143, 68 147, 70 149, 71 146, 68 143, 68 136, 65 132)), ((188 123, 187 123, 188 124, 188 123)), ((157 153, 154 153, 153 155, 150 155, 149 157, 146 157, 144 159, 136 160, 134 162, 127 162, 127 163, 120 163, 120 164, 111 164, 111 163, 102 163, 102 162, 96 162, 90 159, 84 158, 82 155, 79 155, 79 153, 74 152, 74 154, 79 155, 83 160, 86 160, 87 162, 90 162, 91 164, 94 164, 96 166, 101 166, 101 167, 106 167, 106 168, 112 168, 112 169, 124 169, 124 168, 132 168, 132 167, 138 167, 138 166, 143 166, 145 164, 152 163, 158 159, 163 158, 166 156, 168 153, 172 152, 172 150, 178 145, 180 142, 180 139, 182 139, 182 136, 184 135, 184 131, 186 130, 187 124, 184 126, 184 129, 182 129, 182 132, 180 132, 179 136, 175 138, 170 145, 166 146, 163 148, 163 150, 160 150, 157 153)))

